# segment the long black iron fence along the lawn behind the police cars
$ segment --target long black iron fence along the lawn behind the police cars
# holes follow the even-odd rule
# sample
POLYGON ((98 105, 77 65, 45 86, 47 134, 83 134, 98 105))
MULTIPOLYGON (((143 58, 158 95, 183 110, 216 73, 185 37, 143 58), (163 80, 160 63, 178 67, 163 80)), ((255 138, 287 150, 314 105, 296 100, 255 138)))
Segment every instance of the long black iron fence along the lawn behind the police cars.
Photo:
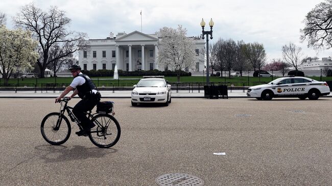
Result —
MULTIPOLYGON (((332 76, 328 76, 328 70, 304 70, 304 76, 315 79, 317 81, 327 82, 332 86, 332 76)), ((172 90, 185 90, 188 92, 202 91, 206 85, 206 72, 193 71, 185 76, 179 74, 172 74, 164 78, 172 86, 172 90)), ((247 90, 248 87, 267 84, 276 78, 287 76, 283 71, 268 71, 265 74, 253 76, 254 71, 243 71, 240 74, 228 71, 214 71, 210 72, 210 85, 227 85, 228 90, 247 90)), ((151 75, 151 74, 150 74, 151 75)), ((1 77, 1 76, 0 76, 1 77)), ((123 76, 114 79, 112 76, 97 76, 91 77, 94 84, 100 90, 132 90, 133 86, 143 78, 143 76, 123 76)), ((33 77, 25 76, 25 74, 15 74, 7 80, 0 78, 0 90, 34 90, 37 91, 62 91, 73 81, 71 73, 58 73, 57 76, 50 76, 39 78, 39 74, 34 74, 33 77)))

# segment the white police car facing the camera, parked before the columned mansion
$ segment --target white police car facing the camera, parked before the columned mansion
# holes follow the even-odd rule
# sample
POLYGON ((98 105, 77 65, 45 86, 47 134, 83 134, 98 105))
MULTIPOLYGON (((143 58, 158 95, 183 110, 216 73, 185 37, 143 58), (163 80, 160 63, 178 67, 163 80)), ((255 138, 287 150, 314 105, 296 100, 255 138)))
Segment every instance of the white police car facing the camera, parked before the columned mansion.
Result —
POLYGON ((171 85, 167 83, 163 76, 144 76, 131 91, 131 105, 136 106, 137 103, 169 105, 172 102, 172 91, 171 85))

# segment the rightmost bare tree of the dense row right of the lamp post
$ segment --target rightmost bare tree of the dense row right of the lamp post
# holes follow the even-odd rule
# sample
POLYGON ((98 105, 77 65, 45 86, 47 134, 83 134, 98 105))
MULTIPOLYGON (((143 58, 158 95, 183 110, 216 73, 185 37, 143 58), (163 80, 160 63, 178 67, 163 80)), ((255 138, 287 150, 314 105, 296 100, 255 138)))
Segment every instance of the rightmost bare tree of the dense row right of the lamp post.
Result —
POLYGON ((248 43, 243 45, 242 51, 255 71, 256 68, 260 70, 265 65, 266 53, 263 44, 257 42, 248 43))

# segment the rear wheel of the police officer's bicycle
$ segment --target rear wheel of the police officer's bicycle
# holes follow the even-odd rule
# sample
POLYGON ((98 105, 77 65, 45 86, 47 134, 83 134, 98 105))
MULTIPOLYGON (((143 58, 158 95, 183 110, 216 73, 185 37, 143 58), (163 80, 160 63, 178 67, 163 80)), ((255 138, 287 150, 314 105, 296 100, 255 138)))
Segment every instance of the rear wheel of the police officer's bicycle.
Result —
POLYGON ((96 126, 91 128, 89 139, 101 148, 109 148, 120 139, 121 128, 117 120, 111 115, 99 114, 93 117, 92 121, 96 126))

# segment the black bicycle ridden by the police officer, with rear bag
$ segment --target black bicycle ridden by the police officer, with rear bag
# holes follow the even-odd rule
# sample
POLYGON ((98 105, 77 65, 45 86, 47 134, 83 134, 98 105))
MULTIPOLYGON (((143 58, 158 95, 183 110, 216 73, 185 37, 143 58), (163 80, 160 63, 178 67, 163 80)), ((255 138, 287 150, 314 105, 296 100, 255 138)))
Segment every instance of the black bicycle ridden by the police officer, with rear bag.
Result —
MULTIPOLYGON (((68 118, 64 115, 65 111, 67 111, 69 118, 75 122, 80 129, 83 129, 79 120, 72 112, 73 108, 67 105, 69 100, 70 98, 60 100, 60 112, 53 112, 46 115, 41 122, 41 135, 44 140, 51 145, 61 145, 69 139, 72 128, 68 118), (65 123, 62 122, 63 120, 65 123)), ((109 148, 115 145, 120 139, 121 128, 120 124, 114 118, 115 113, 113 107, 111 115, 107 113, 91 114, 91 111, 86 112, 86 114, 88 118, 96 124, 87 135, 90 141, 101 148, 109 148)))

